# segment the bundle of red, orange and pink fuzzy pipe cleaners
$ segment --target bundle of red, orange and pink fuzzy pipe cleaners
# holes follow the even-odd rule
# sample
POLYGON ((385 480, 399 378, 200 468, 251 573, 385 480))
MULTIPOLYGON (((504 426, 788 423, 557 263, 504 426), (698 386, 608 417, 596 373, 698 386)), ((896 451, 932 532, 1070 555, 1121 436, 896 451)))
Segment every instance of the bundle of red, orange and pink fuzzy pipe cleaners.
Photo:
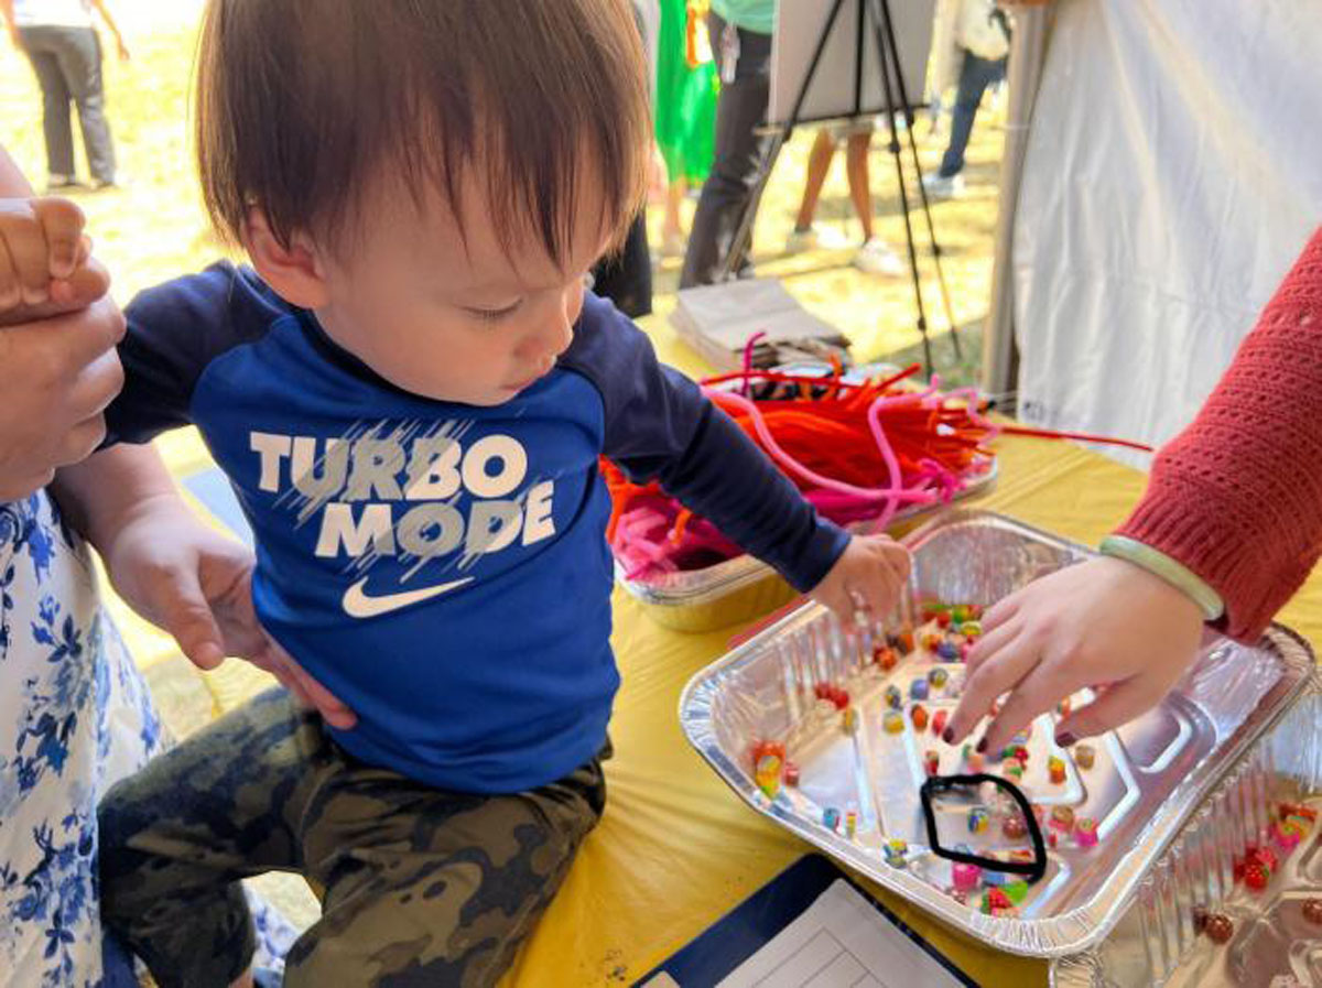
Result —
MULTIPOLYGON (((755 341, 751 341, 755 342, 755 341)), ((747 357, 747 354, 746 354, 747 357)), ((999 433, 1138 444, 1096 436, 995 425, 973 388, 941 391, 907 379, 919 365, 888 378, 846 379, 744 370, 707 378, 703 392, 767 453, 817 511, 837 524, 870 522, 882 531, 906 510, 949 503, 985 476, 999 433)), ((743 555, 707 519, 694 515, 656 482, 632 483, 602 461, 611 491, 607 538, 629 580, 703 569, 743 555)))

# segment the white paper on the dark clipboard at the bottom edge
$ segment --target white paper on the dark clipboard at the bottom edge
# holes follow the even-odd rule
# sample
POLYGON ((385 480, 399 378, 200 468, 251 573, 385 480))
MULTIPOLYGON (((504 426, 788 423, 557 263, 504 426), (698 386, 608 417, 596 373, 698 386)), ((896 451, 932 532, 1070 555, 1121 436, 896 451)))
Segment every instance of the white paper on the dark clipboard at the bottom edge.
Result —
POLYGON ((849 882, 837 880, 719 988, 961 988, 849 882))

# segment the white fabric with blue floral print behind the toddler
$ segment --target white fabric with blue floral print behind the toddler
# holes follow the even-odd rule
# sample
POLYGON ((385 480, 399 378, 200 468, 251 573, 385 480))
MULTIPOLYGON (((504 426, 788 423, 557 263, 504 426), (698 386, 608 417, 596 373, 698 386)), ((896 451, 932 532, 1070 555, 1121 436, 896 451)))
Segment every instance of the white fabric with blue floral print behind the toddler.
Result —
MULTIPOLYGON (((103 958, 97 800, 164 742, 82 542, 44 493, 0 503, 0 984, 136 984, 103 958)), ((283 956, 293 930, 256 919, 283 956)))

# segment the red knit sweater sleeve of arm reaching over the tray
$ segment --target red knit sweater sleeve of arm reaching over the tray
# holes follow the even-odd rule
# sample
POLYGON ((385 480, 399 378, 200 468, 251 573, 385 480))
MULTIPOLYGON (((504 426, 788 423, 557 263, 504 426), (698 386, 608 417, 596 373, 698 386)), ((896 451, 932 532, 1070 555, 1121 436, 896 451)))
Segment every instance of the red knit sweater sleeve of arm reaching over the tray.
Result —
POLYGON ((1322 229, 1118 530, 1198 573, 1256 639, 1322 551, 1322 229))

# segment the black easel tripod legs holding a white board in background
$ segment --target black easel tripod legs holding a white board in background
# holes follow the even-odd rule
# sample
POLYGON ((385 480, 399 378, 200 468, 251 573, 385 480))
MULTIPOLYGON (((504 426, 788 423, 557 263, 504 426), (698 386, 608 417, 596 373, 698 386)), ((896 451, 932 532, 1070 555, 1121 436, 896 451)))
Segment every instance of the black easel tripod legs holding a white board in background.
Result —
MULTIPOLYGON (((785 3, 785 0, 781 1, 785 3)), ((822 26, 821 36, 817 38, 817 45, 813 49, 813 58, 808 65, 808 73, 804 75, 802 85, 798 87, 798 94, 795 98, 795 106, 789 111, 789 116, 785 122, 776 128, 776 133, 773 135, 771 145, 767 149, 767 160, 763 162, 761 178, 758 188, 754 190, 754 194, 748 197, 748 202, 739 217, 739 225, 735 227, 734 236, 730 242, 730 250, 727 251, 722 264, 720 273, 723 279, 730 279, 735 275, 743 264, 744 255, 748 252, 752 242, 754 217, 758 213, 758 203, 761 199, 763 190, 767 188, 767 180, 771 177, 771 169, 776 164, 776 157, 780 155, 780 149, 789 140, 795 127, 798 124, 804 100, 808 98, 808 90, 812 87, 813 78, 817 75, 817 66, 821 63, 822 52, 826 49, 826 41, 830 38, 832 30, 836 26, 836 21, 839 17, 843 5, 845 0, 832 0, 830 15, 826 17, 826 24, 822 26)), ((859 0, 855 11, 854 108, 849 116, 858 118, 869 115, 863 112, 862 107, 865 61, 863 42, 866 38, 866 30, 871 28, 875 34, 876 52, 882 70, 882 92, 884 98, 883 112, 890 129, 890 143, 887 144, 887 151, 890 151, 891 157, 895 161, 895 177, 900 193, 900 214, 904 217, 904 239, 908 246, 910 275, 914 281, 914 301, 917 306, 917 330, 923 337, 923 362, 927 366, 928 375, 931 375, 932 341, 927 333, 927 309, 923 302, 923 287, 917 272, 917 248, 914 242, 914 223, 910 218, 908 189, 904 184, 904 160, 900 153, 900 139, 895 127, 896 111, 904 114, 914 174, 917 181, 919 198, 923 203, 923 215, 927 219, 927 232, 932 247, 932 262, 936 265, 936 280, 941 288, 941 302, 945 309, 945 320, 951 328, 951 341, 954 343, 954 355, 956 358, 962 359, 964 354, 960 346, 960 334, 957 326, 954 325, 954 312, 951 306, 951 292, 945 284, 945 272, 941 268, 941 248, 936 242, 936 229, 932 226, 932 207, 927 197, 927 189, 923 186, 923 172, 917 157, 917 139, 914 136, 914 108, 908 99, 904 73, 900 70, 900 53, 899 45, 895 41, 895 24, 891 20, 890 0, 859 0)))

